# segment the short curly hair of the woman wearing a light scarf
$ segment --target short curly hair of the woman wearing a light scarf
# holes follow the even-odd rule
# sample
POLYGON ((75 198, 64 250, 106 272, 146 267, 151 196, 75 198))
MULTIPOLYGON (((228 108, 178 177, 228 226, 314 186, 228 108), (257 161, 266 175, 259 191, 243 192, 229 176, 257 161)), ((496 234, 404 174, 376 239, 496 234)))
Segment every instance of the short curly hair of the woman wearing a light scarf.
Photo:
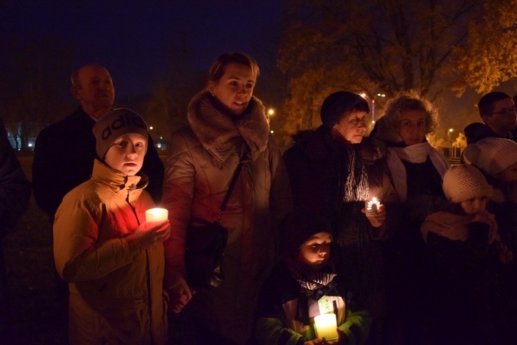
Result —
POLYGON ((400 92, 396 98, 386 103, 383 117, 392 131, 398 133, 401 115, 407 110, 421 110, 425 113, 425 134, 432 133, 438 128, 438 111, 427 99, 418 96, 413 90, 400 92))

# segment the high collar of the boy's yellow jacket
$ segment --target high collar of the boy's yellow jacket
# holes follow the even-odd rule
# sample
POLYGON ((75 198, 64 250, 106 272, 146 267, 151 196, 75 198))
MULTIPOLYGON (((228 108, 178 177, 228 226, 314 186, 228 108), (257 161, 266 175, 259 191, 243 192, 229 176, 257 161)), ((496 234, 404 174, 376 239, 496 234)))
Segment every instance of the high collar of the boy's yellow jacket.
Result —
POLYGON ((130 202, 133 202, 140 196, 142 190, 149 182, 148 177, 142 172, 139 172, 139 175, 128 176, 101 163, 97 159, 93 163, 92 180, 97 180, 107 185, 114 193, 121 195, 124 199, 128 197, 129 192, 130 202), (131 193, 132 191, 134 193, 131 193))

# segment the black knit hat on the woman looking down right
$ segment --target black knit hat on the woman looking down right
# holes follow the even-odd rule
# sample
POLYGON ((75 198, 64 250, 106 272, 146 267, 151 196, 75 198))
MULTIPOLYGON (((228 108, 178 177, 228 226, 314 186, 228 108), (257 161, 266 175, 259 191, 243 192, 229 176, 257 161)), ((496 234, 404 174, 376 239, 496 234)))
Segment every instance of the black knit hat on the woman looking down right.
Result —
POLYGON ((327 128, 332 128, 346 112, 354 108, 365 109, 368 112, 368 102, 353 92, 334 92, 327 96, 321 105, 321 123, 327 128))

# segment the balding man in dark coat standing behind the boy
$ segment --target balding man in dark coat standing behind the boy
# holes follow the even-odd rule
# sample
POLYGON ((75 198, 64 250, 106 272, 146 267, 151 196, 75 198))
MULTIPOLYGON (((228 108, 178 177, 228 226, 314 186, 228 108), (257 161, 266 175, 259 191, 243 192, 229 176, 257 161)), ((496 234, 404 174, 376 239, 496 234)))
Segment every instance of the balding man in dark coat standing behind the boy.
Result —
MULTIPOLYGON (((85 65, 71 79, 70 91, 81 106, 39 132, 34 147, 34 198, 38 207, 48 214, 50 224, 63 196, 90 179, 97 157, 92 128, 101 116, 110 112, 115 96, 111 76, 101 65, 85 65)), ((149 177, 146 190, 155 202, 161 202, 163 163, 151 137, 142 171, 149 177)))

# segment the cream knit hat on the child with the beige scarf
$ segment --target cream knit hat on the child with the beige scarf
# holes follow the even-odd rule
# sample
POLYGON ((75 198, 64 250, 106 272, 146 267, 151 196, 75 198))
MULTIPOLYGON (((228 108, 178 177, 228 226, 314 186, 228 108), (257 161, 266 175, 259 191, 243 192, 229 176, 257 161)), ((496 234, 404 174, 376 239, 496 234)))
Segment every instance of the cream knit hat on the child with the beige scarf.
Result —
POLYGON ((492 192, 492 187, 474 165, 455 165, 443 176, 443 193, 454 204, 472 198, 489 198, 492 192))

